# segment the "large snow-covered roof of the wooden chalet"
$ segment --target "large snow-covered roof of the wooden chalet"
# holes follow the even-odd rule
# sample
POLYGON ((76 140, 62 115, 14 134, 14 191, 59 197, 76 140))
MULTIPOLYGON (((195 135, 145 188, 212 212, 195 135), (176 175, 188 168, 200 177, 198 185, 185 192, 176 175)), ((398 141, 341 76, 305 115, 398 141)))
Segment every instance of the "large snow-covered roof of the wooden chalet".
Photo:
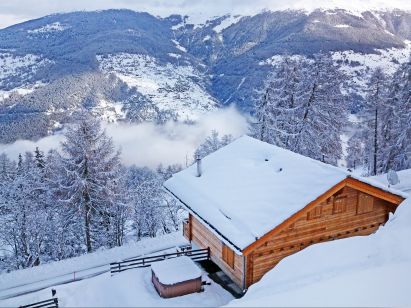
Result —
POLYGON ((202 170, 197 177, 192 165, 164 186, 237 251, 352 176, 248 136, 205 157, 202 170))

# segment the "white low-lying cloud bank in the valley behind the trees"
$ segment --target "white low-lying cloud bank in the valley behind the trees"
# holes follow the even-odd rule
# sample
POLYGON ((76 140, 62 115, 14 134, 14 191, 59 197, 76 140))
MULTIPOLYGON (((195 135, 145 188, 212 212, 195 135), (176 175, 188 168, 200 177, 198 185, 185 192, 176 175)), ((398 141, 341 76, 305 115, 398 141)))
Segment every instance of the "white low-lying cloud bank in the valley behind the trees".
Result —
MULTIPOLYGON (((148 166, 155 168, 163 165, 189 163, 195 149, 216 130, 220 135, 231 134, 239 137, 247 134, 247 119, 234 107, 204 114, 195 124, 168 122, 164 125, 142 124, 107 124, 107 134, 121 149, 125 165, 148 166)), ((13 144, 0 144, 0 153, 5 152, 10 158, 17 159, 19 153, 33 151, 38 146, 47 152, 59 149, 64 139, 62 134, 42 138, 36 142, 18 140, 13 144)))

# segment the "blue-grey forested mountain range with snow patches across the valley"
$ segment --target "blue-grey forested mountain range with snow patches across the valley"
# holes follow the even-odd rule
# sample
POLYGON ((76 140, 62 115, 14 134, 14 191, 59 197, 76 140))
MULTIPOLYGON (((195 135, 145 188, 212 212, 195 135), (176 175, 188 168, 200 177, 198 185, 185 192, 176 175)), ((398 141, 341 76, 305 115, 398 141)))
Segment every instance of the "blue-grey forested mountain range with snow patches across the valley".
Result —
POLYGON ((109 121, 251 111, 284 53, 332 51, 355 109, 368 74, 405 61, 410 40, 411 13, 400 10, 264 11, 202 24, 129 10, 54 14, 0 30, 0 142, 44 136, 84 109, 109 121))

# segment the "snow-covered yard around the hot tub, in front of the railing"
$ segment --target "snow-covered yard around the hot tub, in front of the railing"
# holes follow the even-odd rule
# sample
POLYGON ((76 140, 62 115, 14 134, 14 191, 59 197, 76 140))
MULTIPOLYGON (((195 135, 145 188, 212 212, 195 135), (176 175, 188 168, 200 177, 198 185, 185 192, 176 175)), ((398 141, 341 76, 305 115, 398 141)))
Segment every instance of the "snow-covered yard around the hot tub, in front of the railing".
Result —
MULTIPOLYGON (((203 280, 207 279, 203 274, 203 280)), ((208 280, 208 279, 207 279, 208 280)), ((151 282, 150 268, 109 273, 87 280, 60 285, 57 291, 60 307, 217 307, 226 305, 232 295, 215 284, 205 291, 163 299, 151 282)), ((1 307, 20 306, 51 297, 51 288, 17 298, 0 301, 1 307)))

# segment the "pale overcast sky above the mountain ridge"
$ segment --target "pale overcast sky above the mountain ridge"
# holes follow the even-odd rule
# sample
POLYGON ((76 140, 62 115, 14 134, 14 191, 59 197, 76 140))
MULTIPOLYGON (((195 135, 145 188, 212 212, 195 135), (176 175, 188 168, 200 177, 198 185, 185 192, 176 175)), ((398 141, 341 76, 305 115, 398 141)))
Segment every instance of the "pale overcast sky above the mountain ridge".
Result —
POLYGON ((411 10, 410 0, 0 0, 0 28, 44 15, 80 10, 128 8, 154 15, 187 14, 197 20, 225 13, 249 15, 262 9, 342 7, 351 10, 400 8, 411 10))

